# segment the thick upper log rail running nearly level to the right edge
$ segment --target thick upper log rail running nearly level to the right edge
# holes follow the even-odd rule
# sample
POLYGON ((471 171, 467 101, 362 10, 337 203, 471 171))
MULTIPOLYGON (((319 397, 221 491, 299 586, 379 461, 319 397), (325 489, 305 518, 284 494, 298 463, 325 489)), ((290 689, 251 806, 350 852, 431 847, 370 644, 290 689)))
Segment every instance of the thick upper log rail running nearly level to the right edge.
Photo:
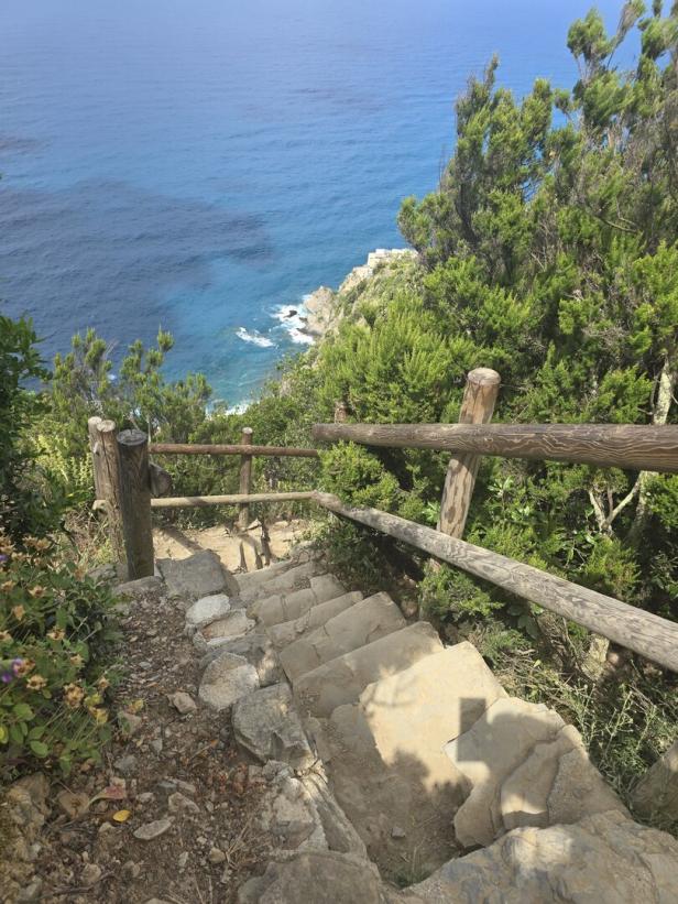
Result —
POLYGON ((678 426, 642 424, 316 424, 315 439, 553 459, 678 473, 678 426))

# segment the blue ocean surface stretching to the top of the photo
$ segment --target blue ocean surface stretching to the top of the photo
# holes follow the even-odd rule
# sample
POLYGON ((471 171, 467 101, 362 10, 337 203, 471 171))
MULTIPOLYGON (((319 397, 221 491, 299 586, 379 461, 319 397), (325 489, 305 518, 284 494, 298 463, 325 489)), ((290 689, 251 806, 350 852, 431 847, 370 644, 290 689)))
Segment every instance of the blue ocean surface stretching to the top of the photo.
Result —
MULTIPOLYGON (((455 97, 493 53, 522 95, 571 85, 589 0, 3 0, 0 311, 46 357, 94 326, 119 359, 252 399, 304 337, 281 311, 402 247, 455 97), (284 320, 284 318, 282 318, 284 320)), ((599 0, 609 26, 621 0, 599 0)))

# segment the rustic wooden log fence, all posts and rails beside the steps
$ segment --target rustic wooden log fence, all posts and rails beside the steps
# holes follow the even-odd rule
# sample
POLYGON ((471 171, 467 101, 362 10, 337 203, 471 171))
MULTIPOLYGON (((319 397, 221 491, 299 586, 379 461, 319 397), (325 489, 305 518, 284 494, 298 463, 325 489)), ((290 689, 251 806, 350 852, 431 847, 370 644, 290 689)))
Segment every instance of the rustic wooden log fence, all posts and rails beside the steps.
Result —
POLYGON ((317 449, 256 446, 249 428, 238 445, 153 443, 139 431, 123 431, 116 442, 112 422, 92 418, 90 449, 97 508, 110 519, 113 548, 122 535, 130 578, 153 574, 152 509, 238 505, 247 526, 255 502, 315 501, 341 518, 389 534, 436 562, 447 562, 524 597, 615 643, 678 672, 678 624, 461 540, 479 457, 553 459, 598 467, 678 473, 678 426, 635 424, 490 424, 500 375, 486 368, 468 374, 458 424, 348 424, 348 406, 338 403, 335 424, 316 424, 324 442, 353 440, 371 446, 447 450, 450 458, 438 530, 378 509, 351 508, 320 492, 252 493, 253 456, 316 458, 317 449), (229 495, 165 497, 170 475, 149 462, 157 455, 239 455, 240 492, 229 495))

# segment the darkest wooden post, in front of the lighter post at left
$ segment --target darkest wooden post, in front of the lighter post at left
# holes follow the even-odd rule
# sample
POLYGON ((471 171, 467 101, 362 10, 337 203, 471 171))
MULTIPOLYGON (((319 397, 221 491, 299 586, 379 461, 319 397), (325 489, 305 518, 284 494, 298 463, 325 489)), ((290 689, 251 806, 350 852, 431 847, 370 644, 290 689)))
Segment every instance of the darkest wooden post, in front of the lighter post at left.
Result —
POLYGON ((124 548, 130 580, 153 574, 149 437, 142 431, 118 434, 124 548))

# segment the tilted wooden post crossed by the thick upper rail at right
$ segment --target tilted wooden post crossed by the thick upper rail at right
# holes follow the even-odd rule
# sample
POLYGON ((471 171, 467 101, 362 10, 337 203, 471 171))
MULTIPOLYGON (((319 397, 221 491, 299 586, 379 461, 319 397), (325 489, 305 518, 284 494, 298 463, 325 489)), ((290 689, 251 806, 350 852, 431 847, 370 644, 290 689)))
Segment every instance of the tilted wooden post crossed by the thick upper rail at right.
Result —
MULTIPOLYGON (((499 373, 490 368, 477 368, 468 373, 459 412, 460 424, 488 424, 492 420, 500 382, 499 373)), ((438 530, 449 536, 461 537, 463 534, 479 465, 480 456, 469 453, 450 458, 438 522, 438 530)))

